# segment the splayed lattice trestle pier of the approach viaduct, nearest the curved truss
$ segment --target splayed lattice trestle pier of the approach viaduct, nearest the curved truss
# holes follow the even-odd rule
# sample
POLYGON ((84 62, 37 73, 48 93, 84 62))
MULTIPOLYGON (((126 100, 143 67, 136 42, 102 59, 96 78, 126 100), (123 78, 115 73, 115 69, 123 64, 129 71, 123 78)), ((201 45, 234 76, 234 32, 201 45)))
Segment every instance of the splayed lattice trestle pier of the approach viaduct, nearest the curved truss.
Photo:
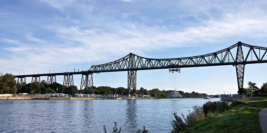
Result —
MULTIPOLYGON (((88 87, 92 88, 93 91, 93 73, 86 73, 82 74, 82 81, 81 81, 81 87, 80 90, 84 87, 84 91, 88 89, 88 87)), ((93 91, 94 94, 94 91, 93 91)))

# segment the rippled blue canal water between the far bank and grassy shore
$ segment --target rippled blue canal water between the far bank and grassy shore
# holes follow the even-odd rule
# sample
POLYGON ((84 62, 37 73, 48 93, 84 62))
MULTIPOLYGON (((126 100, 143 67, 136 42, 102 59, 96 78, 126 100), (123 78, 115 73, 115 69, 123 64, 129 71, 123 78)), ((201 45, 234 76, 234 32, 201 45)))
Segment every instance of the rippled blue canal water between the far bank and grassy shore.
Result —
MULTIPOLYGON (((211 99, 217 101, 219 98, 211 99)), ((199 99, 138 100, 0 100, 0 132, 112 132, 114 121, 123 133, 143 126, 150 133, 172 130, 172 113, 188 114, 199 99)))

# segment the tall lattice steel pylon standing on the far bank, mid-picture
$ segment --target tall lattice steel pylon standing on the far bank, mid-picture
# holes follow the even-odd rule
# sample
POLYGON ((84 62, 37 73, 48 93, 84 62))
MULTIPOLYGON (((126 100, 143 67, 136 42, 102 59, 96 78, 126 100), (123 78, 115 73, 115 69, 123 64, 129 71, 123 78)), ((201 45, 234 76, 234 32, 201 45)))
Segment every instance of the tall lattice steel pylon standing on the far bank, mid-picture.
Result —
POLYGON ((131 90, 136 93, 136 70, 131 70, 135 68, 135 55, 130 53, 129 55, 129 64, 128 64, 128 93, 127 97, 130 97, 131 90))

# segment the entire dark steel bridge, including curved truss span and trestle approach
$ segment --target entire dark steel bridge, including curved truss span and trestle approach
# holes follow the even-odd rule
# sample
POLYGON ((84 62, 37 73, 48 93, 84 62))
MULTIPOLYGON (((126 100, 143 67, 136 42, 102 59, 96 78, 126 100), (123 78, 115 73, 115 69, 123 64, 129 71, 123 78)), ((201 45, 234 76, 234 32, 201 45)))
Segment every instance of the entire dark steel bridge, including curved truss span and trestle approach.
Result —
POLYGON ((252 46, 246 43, 238 42, 233 46, 220 51, 200 56, 171 59, 151 59, 129 53, 125 57, 116 61, 101 65, 93 65, 87 71, 15 75, 15 77, 18 78, 17 83, 23 84, 26 83, 26 77, 32 77, 31 82, 40 82, 41 76, 47 76, 47 84, 52 84, 56 82, 57 75, 63 75, 63 85, 68 87, 73 85, 73 75, 81 74, 82 80, 80 90, 84 88, 86 91, 89 87, 92 88, 93 86, 93 73, 128 71, 127 96, 129 96, 131 90, 136 92, 136 72, 138 70, 169 69, 169 72, 177 72, 180 71, 180 68, 186 67, 232 65, 236 67, 238 88, 241 88, 244 85, 245 65, 267 63, 266 52, 266 47, 252 46))

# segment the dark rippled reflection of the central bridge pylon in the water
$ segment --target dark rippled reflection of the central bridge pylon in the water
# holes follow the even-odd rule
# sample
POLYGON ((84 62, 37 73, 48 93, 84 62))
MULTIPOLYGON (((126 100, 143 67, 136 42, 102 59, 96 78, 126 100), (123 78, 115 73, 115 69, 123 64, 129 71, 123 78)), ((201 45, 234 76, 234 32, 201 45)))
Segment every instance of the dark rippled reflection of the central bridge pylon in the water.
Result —
POLYGON ((127 109, 126 109, 126 121, 125 125, 127 125, 128 132, 134 132, 137 130, 137 105, 136 100, 127 100, 127 109))

